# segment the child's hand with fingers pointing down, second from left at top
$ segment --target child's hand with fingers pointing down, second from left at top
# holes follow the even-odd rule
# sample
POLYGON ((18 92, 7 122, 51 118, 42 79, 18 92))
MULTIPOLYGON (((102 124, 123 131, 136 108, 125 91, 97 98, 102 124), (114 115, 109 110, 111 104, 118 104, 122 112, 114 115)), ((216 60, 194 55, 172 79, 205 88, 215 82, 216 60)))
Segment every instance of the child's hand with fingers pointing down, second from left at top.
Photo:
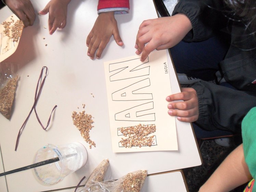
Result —
POLYGON ((46 7, 39 11, 40 15, 49 12, 49 33, 52 35, 57 28, 63 29, 67 22, 67 5, 71 0, 51 0, 46 7))

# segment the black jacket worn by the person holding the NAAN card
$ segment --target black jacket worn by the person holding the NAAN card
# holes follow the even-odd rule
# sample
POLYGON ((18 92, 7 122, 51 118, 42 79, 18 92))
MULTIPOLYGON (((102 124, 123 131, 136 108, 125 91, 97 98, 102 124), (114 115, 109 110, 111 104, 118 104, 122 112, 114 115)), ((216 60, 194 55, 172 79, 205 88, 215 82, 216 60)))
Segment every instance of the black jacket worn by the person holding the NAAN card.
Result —
MULTIPOLYGON (((184 41, 202 41, 217 31, 231 34, 231 46, 220 62, 221 76, 237 90, 211 82, 190 85, 199 99, 199 119, 195 122, 205 130, 241 132, 243 117, 256 106, 256 41, 247 35, 243 22, 234 22, 230 10, 218 0, 180 0, 172 15, 183 13, 193 29, 184 41)), ((214 50, 213 50, 214 51, 214 50)))

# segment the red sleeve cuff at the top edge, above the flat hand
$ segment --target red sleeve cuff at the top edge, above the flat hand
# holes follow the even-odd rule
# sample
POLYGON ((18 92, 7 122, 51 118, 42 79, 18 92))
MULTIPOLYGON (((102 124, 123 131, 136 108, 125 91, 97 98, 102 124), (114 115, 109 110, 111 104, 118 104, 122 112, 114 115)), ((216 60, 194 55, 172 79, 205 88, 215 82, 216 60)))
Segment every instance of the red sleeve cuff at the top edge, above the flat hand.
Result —
POLYGON ((106 8, 128 8, 129 0, 99 0, 98 10, 106 8))

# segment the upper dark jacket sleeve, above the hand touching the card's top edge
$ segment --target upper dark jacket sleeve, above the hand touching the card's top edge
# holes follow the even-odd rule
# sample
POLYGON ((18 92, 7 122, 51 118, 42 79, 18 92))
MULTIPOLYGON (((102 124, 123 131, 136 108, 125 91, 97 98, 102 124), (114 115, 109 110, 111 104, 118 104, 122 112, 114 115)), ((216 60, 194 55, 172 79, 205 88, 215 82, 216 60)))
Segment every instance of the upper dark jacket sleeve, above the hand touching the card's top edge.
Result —
POLYGON ((192 24, 193 29, 183 40, 203 41, 227 26, 224 10, 222 0, 180 0, 172 15, 183 13, 192 24))

